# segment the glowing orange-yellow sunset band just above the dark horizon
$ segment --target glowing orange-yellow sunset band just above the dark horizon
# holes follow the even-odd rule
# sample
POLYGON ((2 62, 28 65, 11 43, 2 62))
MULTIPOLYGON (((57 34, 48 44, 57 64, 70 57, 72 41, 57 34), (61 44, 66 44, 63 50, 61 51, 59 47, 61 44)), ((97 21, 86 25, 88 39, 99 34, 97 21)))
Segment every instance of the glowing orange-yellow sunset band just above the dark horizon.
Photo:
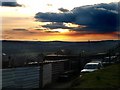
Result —
POLYGON ((48 32, 6 32, 3 40, 23 40, 23 41, 99 41, 99 40, 118 40, 113 33, 107 34, 81 34, 77 32, 68 33, 48 33, 48 32), (26 33, 26 34, 25 34, 26 33), (19 34, 19 35, 18 35, 19 34))

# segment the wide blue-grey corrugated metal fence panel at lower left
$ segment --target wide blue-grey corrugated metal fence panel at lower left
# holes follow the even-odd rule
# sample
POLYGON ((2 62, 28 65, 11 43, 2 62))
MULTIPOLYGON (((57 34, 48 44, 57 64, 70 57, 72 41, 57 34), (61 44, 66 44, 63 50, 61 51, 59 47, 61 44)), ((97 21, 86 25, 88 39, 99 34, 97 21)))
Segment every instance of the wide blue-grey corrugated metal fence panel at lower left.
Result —
POLYGON ((2 87, 38 88, 39 67, 20 67, 2 70, 2 87))

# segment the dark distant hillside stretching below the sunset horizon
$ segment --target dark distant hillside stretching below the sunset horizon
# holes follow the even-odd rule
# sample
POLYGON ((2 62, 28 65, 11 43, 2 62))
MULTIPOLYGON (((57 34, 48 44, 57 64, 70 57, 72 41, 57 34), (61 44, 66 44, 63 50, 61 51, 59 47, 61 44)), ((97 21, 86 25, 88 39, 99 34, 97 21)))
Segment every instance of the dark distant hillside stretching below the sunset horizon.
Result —
POLYGON ((58 50, 67 49, 74 54, 82 51, 86 54, 103 53, 116 47, 120 40, 94 41, 94 42, 38 42, 38 41, 2 41, 2 52, 7 56, 32 58, 40 53, 54 53, 58 50))

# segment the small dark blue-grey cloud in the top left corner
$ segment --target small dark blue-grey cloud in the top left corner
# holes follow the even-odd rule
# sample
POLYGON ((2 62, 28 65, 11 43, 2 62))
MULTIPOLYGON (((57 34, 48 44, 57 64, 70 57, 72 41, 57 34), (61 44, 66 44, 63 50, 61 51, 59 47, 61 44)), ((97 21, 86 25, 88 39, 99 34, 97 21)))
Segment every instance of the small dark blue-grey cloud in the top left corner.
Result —
POLYGON ((0 6, 4 6, 4 7, 21 7, 22 5, 18 4, 15 0, 11 0, 11 1, 6 1, 6 0, 1 0, 0 1, 0 6))

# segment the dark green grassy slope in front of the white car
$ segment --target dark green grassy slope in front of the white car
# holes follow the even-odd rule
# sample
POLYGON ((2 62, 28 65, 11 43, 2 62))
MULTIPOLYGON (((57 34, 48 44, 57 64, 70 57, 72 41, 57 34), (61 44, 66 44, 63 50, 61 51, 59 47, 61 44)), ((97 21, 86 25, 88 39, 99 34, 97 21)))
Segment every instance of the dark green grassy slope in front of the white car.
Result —
POLYGON ((77 78, 71 85, 75 88, 118 88, 120 87, 120 64, 111 65, 77 78))

